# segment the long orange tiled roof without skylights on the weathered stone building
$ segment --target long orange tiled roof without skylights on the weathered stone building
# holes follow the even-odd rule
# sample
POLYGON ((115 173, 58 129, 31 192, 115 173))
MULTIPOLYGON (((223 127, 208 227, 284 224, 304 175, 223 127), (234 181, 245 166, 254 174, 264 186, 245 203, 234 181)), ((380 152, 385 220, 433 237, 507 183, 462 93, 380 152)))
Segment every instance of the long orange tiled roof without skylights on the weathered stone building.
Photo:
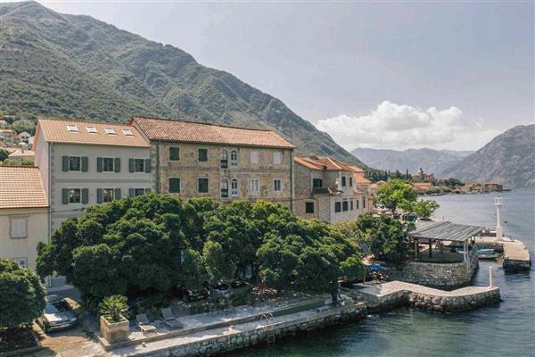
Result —
POLYGON ((245 129, 185 120, 132 117, 150 140, 185 143, 243 145, 293 149, 295 146, 275 131, 245 129))

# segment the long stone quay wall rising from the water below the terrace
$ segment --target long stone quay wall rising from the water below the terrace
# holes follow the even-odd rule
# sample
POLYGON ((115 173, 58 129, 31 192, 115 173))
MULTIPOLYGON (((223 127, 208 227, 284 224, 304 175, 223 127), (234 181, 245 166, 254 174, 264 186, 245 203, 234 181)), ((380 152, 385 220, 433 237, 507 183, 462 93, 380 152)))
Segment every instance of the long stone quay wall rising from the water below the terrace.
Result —
MULTIPOLYGON (((364 318, 366 318, 366 305, 364 303, 350 303, 336 309, 317 312, 314 317, 309 316, 300 320, 276 323, 272 325, 270 333, 273 333, 277 339, 283 336, 294 336, 304 331, 325 328, 343 321, 364 318)), ((154 357, 210 356, 266 343, 267 334, 267 330, 261 327, 243 331, 235 330, 235 332, 225 336, 214 336, 187 345, 169 347, 151 353, 136 353, 136 355, 154 357)))

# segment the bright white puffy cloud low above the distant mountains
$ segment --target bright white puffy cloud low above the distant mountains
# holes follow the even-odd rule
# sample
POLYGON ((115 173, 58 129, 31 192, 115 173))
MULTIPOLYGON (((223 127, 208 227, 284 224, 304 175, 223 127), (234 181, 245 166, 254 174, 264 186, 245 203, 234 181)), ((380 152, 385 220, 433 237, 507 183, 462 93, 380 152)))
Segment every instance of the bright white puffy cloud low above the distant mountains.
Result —
POLYGON ((318 120, 316 126, 348 150, 356 147, 477 150, 500 132, 484 129, 481 120, 467 119, 455 106, 441 111, 435 107, 424 110, 387 101, 367 115, 342 114, 318 120))

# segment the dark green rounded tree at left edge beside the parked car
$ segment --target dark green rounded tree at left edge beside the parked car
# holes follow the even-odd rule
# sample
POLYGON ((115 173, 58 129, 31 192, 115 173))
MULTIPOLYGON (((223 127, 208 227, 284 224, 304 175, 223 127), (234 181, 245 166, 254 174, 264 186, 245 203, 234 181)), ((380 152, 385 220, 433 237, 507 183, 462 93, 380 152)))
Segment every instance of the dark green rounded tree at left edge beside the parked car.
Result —
POLYGON ((0 259, 0 328, 30 324, 45 309, 45 288, 37 275, 0 259))

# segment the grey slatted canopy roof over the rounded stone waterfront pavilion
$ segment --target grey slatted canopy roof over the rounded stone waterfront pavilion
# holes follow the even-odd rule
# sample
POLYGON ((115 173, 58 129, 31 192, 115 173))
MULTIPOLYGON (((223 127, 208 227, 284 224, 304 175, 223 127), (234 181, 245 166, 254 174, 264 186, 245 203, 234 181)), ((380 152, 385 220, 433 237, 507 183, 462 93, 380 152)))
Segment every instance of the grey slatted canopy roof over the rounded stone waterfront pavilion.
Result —
POLYGON ((467 239, 476 236, 483 228, 478 226, 467 226, 451 222, 433 222, 416 228, 408 235, 413 238, 449 240, 453 242, 465 242, 467 239))

